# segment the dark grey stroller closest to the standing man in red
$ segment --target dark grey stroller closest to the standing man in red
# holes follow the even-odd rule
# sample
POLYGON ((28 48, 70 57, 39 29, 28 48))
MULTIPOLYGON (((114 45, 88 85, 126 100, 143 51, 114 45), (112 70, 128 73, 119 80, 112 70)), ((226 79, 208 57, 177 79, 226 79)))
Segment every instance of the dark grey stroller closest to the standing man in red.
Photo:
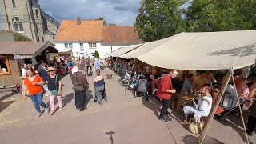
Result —
POLYGON ((144 75, 138 75, 137 85, 134 87, 134 97, 146 96, 146 100, 149 100, 148 82, 144 75))

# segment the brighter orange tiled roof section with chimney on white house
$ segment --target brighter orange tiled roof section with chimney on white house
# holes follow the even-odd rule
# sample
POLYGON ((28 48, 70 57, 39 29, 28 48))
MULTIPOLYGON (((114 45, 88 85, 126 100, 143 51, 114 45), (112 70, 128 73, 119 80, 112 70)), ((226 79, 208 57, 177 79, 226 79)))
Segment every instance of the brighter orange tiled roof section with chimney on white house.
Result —
POLYGON ((103 41, 103 21, 62 21, 55 42, 103 41))

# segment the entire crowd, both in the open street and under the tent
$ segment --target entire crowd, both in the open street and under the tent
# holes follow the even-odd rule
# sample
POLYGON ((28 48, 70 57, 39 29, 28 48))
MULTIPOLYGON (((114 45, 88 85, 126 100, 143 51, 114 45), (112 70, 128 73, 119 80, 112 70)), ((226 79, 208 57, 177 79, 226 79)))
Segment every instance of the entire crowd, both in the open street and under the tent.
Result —
MULTIPOLYGON (((200 123, 202 117, 207 117, 214 101, 217 98, 220 86, 222 85, 222 76, 218 76, 216 71, 205 70, 168 70, 156 66, 150 66, 138 60, 126 61, 125 59, 106 58, 110 69, 124 77, 125 74, 146 75, 150 83, 150 93, 155 94, 162 102, 162 110, 159 120, 168 122, 166 114, 170 108, 170 99, 173 94, 194 94, 200 95, 196 100, 192 100, 191 106, 183 106, 184 121, 181 124, 188 124, 187 114, 194 114, 194 122, 200 123), (156 92, 156 93, 155 93, 156 92)), ((74 85, 75 106, 76 109, 85 110, 86 90, 89 89, 89 83, 86 79, 86 70, 94 67, 95 78, 94 91, 95 97, 100 106, 102 106, 102 93, 105 89, 104 78, 100 74, 102 70, 102 61, 99 58, 58 58, 50 64, 43 63, 42 60, 34 66, 22 64, 22 75, 25 76, 23 84, 23 98, 29 95, 34 107, 37 110, 37 118, 42 114, 40 106, 44 112, 49 110, 46 104, 42 102, 43 95, 49 95, 50 114, 55 113, 54 101, 58 100, 58 107, 62 110, 62 76, 71 75, 71 81, 74 85), (29 94, 26 94, 27 90, 29 94)), ((251 102, 256 93, 256 82, 248 86, 245 78, 242 76, 242 70, 234 70, 234 84, 238 91, 239 103, 250 106, 250 115, 247 122, 247 133, 252 134, 256 123, 256 103, 251 102)), ((218 106, 216 114, 224 111, 222 106, 218 106)))

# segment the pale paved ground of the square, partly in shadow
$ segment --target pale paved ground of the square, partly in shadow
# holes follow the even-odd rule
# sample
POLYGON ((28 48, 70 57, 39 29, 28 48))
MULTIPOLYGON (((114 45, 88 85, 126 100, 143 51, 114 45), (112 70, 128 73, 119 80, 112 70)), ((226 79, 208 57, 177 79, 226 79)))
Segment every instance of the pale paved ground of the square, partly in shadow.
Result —
MULTIPOLYGON (((63 78, 64 110, 56 114, 42 114, 34 119, 36 110, 30 99, 23 101, 21 95, 10 90, 0 91, 0 143, 196 143, 197 138, 187 128, 179 125, 178 118, 172 122, 158 121, 161 104, 154 98, 134 98, 118 85, 118 76, 106 79, 109 102, 103 106, 93 102, 92 77, 88 78, 87 110, 79 112, 74 106, 74 90, 70 77, 63 78)), ((49 98, 45 97, 44 102, 49 98)), ((49 105, 49 104, 48 104, 49 105)), ((217 118, 216 118, 217 119, 217 118)), ((214 120, 208 133, 224 143, 246 143, 241 120, 231 116, 226 122, 214 120)), ((256 136, 250 137, 256 143, 256 136)))

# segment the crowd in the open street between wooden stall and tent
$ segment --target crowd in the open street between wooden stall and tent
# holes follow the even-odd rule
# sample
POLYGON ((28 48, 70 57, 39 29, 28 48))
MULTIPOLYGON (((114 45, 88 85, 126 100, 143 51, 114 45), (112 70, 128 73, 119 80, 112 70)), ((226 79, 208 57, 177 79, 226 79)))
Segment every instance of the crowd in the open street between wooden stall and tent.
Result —
POLYGON ((102 61, 99 58, 54 58, 49 64, 37 59, 37 64, 22 64, 22 98, 31 98, 39 118, 44 113, 49 113, 49 108, 43 102, 43 96, 49 96, 50 114, 56 112, 55 99, 58 100, 59 110, 63 110, 62 102, 62 78, 70 74, 74 85, 75 106, 79 111, 85 110, 86 90, 89 83, 86 79, 86 70, 94 67, 96 76, 94 78, 94 90, 98 103, 102 106, 102 86, 105 85, 104 78, 100 74, 102 61), (40 109, 43 107, 43 111, 40 109))

